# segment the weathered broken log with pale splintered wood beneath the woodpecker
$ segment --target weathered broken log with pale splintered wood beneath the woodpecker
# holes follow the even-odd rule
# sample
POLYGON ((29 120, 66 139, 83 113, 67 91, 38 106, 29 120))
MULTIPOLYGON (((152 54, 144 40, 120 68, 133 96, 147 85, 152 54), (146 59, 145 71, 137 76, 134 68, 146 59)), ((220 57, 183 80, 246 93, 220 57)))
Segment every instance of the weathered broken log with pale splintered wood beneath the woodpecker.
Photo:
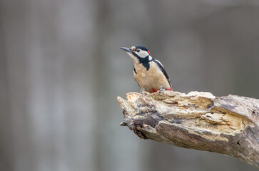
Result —
POLYGON ((232 155, 259 167, 259 100, 211 93, 127 93, 123 121, 140 138, 232 155))

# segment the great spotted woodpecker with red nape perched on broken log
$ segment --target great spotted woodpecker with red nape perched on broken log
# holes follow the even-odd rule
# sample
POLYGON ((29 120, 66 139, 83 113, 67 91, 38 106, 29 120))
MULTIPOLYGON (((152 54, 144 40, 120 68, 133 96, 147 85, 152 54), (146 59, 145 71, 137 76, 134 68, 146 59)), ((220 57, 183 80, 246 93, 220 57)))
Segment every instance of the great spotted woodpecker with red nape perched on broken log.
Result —
POLYGON ((133 60, 133 74, 142 90, 154 93, 158 90, 173 90, 170 78, 163 65, 152 58, 148 48, 137 45, 131 48, 121 47, 133 60))

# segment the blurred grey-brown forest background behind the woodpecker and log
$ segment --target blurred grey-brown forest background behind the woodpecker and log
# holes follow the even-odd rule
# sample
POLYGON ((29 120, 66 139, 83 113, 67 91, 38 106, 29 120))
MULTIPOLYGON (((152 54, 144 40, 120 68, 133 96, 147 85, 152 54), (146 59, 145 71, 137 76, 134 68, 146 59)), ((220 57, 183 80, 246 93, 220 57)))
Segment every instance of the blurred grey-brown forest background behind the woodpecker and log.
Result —
POLYGON ((257 170, 119 126, 136 44, 176 91, 259 98, 258 0, 0 0, 0 170, 257 170))

